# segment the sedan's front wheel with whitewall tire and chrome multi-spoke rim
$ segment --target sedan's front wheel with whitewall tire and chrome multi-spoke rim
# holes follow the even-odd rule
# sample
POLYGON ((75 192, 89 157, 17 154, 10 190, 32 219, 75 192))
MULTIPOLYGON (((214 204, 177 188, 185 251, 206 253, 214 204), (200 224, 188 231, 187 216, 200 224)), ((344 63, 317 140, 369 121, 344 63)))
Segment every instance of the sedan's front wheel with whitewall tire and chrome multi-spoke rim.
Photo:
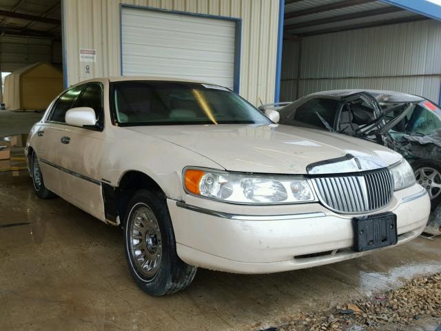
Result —
POLYGON ((197 267, 179 259, 165 199, 139 190, 127 205, 124 248, 136 284, 155 297, 178 292, 192 283, 197 267), (139 248, 139 249, 136 249, 139 248))

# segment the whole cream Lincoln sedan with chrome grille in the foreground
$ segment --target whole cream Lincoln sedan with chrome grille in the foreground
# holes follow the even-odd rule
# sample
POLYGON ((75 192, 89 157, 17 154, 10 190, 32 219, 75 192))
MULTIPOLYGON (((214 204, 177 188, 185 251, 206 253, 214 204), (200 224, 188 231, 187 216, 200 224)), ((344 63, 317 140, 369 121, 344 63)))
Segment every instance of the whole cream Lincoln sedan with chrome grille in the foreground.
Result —
POLYGON ((197 267, 309 268, 422 232, 429 197, 400 154, 269 117, 222 86, 93 79, 51 103, 25 153, 38 197, 121 225, 152 295, 185 288, 197 267))

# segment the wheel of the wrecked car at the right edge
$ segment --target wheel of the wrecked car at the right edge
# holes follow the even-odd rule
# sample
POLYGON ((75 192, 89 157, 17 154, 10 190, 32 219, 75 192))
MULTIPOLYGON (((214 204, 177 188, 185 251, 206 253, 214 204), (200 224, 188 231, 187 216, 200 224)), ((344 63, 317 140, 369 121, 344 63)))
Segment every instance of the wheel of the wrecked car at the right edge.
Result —
POLYGON ((429 193, 431 210, 441 202, 441 162, 430 159, 420 159, 412 164, 416 182, 429 193))

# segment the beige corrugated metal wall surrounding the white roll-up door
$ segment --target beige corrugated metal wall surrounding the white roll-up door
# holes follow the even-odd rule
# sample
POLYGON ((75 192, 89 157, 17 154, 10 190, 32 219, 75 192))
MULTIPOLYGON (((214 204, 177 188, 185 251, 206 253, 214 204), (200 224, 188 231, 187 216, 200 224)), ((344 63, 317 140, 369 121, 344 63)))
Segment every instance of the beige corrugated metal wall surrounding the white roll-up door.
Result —
POLYGON ((63 0, 68 85, 121 75, 120 3, 242 18, 240 94, 274 100, 278 0, 63 0), (79 48, 96 50, 96 63, 80 62, 79 48))

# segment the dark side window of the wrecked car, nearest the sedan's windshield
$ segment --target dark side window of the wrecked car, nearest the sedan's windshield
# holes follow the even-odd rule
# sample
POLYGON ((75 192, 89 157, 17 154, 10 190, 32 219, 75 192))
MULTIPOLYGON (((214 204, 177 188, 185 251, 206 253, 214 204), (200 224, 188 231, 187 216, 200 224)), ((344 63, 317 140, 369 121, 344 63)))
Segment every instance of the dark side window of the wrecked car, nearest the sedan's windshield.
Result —
POLYGON ((306 128, 324 129, 324 121, 334 128, 334 118, 338 101, 333 99, 311 99, 297 109, 286 107, 280 110, 279 123, 289 126, 302 126, 306 128))

